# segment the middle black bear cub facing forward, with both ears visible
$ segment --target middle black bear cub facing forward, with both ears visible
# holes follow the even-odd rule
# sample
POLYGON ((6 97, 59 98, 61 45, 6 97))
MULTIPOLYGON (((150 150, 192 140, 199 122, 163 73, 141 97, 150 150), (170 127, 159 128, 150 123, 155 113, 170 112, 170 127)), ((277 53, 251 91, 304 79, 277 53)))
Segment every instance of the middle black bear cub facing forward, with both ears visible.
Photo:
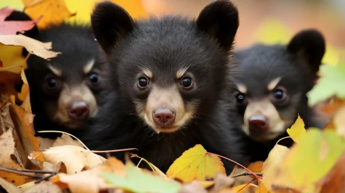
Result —
MULTIPOLYGON (((210 3, 196 21, 178 16, 134 21, 106 1, 97 4, 91 23, 109 61, 111 85, 128 108, 119 112, 119 103, 106 105, 91 128, 96 133, 89 147, 138 148, 139 156, 162 171, 198 143, 242 161, 236 101, 226 96, 236 91, 229 79, 230 51, 239 26, 230 1, 210 3)), ((231 172, 233 165, 224 163, 231 172)))

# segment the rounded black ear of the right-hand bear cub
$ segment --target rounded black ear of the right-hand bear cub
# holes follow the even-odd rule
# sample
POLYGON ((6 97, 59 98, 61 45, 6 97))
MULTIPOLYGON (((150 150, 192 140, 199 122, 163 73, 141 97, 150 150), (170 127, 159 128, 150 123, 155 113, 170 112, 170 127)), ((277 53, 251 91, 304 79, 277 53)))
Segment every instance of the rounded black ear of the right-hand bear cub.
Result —
POLYGON ((326 51, 325 39, 318 30, 303 30, 292 38, 288 44, 288 51, 302 57, 316 73, 326 51))

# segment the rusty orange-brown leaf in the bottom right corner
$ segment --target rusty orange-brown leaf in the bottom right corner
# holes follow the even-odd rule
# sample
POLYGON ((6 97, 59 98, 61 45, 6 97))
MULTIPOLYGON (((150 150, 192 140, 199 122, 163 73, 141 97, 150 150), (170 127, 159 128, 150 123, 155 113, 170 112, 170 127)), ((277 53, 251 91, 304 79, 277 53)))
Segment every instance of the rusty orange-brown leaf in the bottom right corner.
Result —
POLYGON ((338 159, 334 167, 327 176, 324 177, 321 183, 320 193, 328 192, 345 192, 345 153, 338 159))

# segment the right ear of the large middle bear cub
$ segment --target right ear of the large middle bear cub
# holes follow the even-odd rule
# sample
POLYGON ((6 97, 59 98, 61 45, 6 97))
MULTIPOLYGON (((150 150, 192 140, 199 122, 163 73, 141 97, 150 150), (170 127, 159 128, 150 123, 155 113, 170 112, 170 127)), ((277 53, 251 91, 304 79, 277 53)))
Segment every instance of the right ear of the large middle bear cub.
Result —
POLYGON ((201 11, 196 25, 217 39, 221 48, 230 50, 239 28, 239 12, 230 1, 214 1, 201 11))

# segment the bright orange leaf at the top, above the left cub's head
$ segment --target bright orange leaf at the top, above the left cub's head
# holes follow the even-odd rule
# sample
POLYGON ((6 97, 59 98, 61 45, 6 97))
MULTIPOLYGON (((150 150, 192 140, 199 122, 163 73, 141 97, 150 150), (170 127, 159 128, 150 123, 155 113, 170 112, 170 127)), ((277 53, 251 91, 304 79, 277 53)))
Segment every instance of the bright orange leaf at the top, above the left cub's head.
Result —
POLYGON ((38 28, 46 28, 50 24, 61 24, 75 13, 68 11, 64 0, 23 0, 24 11, 32 18, 43 18, 37 23, 38 28), (57 14, 58 13, 58 14, 57 14))

